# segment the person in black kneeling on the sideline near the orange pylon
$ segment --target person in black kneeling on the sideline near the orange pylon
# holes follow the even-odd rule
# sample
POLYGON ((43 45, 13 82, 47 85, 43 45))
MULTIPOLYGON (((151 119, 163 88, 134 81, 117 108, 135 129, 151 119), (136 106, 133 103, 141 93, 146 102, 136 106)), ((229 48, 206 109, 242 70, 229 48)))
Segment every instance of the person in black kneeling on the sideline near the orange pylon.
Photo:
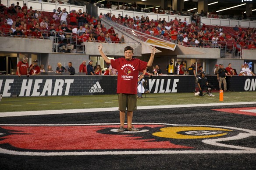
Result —
POLYGON ((195 95, 203 96, 203 91, 207 91, 210 97, 214 97, 215 95, 211 93, 211 88, 208 88, 208 82, 205 75, 206 72, 203 71, 201 76, 198 78, 199 92, 196 92, 195 95))

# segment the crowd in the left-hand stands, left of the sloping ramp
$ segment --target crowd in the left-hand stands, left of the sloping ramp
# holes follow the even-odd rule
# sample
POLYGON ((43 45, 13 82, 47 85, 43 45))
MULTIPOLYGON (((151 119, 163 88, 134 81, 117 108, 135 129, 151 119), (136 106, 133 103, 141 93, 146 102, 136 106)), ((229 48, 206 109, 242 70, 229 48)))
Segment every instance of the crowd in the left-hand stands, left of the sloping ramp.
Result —
MULTIPOLYGON (((17 2, 18 6, 18 2, 17 2)), ((11 5, 14 7, 14 4, 11 5)), ((15 6, 16 7, 16 6, 15 6)), ((15 12, 4 10, 0 20, 0 35, 11 37, 45 38, 57 37, 59 42, 69 43, 71 36, 82 44, 88 42, 125 43, 124 35, 116 34, 114 28, 107 29, 101 24, 100 17, 60 7, 53 13, 27 10, 26 3, 22 8, 16 7, 15 12)))

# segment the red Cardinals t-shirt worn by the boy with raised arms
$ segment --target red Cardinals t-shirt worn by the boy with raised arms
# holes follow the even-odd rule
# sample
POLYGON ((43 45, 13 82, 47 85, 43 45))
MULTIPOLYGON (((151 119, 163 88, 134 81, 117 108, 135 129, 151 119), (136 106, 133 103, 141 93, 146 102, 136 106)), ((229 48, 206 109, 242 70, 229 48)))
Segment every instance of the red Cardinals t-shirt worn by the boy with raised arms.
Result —
POLYGON ((137 81, 140 70, 145 70, 147 62, 133 58, 111 60, 112 68, 117 69, 117 93, 137 94, 137 81))

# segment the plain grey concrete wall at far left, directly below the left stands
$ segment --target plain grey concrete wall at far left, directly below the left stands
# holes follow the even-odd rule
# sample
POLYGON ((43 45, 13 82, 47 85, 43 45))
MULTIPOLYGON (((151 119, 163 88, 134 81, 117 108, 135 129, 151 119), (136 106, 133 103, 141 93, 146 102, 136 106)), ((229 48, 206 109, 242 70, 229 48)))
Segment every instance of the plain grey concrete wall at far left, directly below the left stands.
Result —
POLYGON ((0 37, 0 51, 19 53, 51 53, 53 42, 50 40, 0 37))

